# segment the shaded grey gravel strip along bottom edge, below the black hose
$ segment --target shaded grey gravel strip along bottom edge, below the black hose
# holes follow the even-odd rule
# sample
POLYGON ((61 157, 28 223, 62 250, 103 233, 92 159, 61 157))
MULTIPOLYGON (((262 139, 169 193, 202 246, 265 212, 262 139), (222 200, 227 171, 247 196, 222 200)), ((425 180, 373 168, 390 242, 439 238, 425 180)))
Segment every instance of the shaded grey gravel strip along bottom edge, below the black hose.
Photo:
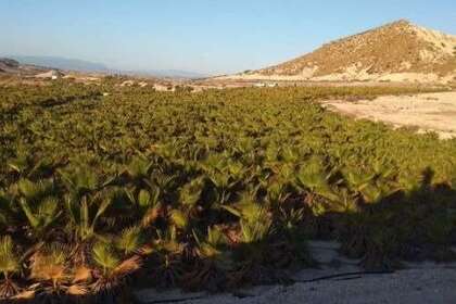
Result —
POLYGON ((292 286, 259 287, 210 295, 178 291, 144 296, 140 303, 191 304, 447 304, 456 302, 456 269, 410 269, 391 275, 345 276, 292 286), (149 300, 147 300, 149 299, 149 300), (188 300, 186 300, 188 299, 188 300))

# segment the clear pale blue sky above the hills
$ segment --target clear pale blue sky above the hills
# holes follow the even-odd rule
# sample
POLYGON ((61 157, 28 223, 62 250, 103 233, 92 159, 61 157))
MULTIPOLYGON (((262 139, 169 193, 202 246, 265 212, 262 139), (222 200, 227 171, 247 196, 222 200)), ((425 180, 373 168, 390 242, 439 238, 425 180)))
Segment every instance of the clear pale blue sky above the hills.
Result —
POLYGON ((0 54, 228 74, 398 18, 456 35, 455 0, 0 0, 0 54))

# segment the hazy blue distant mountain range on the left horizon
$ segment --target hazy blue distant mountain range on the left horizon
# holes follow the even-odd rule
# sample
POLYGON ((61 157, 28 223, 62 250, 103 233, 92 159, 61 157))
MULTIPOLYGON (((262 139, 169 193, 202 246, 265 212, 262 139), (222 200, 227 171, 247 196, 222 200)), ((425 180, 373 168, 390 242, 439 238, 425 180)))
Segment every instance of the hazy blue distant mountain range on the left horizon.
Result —
POLYGON ((78 72, 99 72, 112 74, 127 74, 138 76, 155 76, 168 78, 203 78, 205 74, 194 73, 179 69, 141 69, 141 71, 124 71, 111 68, 102 63, 84 61, 78 59, 66 59, 60 56, 25 56, 25 55, 7 55, 5 58, 14 59, 21 64, 30 64, 37 66, 46 66, 49 68, 58 68, 64 71, 78 72))

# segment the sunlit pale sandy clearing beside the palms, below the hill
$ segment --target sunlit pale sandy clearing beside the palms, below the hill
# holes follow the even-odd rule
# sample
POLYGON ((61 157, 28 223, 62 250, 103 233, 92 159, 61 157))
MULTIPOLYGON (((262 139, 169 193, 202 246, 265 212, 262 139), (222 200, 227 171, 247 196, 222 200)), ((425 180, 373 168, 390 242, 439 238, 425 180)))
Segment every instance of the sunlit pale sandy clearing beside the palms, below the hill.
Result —
POLYGON ((338 112, 395 127, 414 126, 435 131, 442 139, 456 138, 456 92, 387 96, 376 100, 322 102, 338 112))

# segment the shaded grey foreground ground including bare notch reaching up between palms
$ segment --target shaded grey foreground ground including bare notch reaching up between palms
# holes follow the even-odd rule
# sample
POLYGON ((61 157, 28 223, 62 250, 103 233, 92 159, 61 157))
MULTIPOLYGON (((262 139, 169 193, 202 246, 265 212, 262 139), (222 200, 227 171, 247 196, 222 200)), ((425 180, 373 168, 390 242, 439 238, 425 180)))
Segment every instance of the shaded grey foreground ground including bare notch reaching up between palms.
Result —
POLYGON ((358 262, 340 256, 335 242, 311 242, 318 269, 304 269, 290 286, 266 286, 233 293, 138 290, 138 303, 188 304, 416 304, 456 303, 456 264, 405 264, 392 274, 363 274, 358 262))

